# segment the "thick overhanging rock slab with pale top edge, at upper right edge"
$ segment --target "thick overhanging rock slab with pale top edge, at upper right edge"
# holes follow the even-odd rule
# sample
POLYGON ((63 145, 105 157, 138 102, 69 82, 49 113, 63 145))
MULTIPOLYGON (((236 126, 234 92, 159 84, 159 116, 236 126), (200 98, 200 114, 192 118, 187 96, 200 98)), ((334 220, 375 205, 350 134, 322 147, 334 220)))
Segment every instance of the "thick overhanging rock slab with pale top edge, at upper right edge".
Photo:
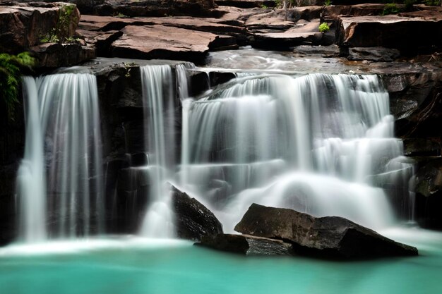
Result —
POLYGON ((442 13, 438 18, 401 16, 340 17, 338 43, 348 47, 387 47, 403 55, 442 46, 442 13))

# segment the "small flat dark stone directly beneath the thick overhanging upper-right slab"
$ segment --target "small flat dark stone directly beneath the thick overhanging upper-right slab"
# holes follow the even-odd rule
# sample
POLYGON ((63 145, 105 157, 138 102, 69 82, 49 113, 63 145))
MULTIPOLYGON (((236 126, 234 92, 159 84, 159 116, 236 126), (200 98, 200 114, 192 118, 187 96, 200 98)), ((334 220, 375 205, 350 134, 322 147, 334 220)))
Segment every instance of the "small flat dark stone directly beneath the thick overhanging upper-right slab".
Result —
POLYGON ((348 60, 394 61, 400 56, 398 49, 383 47, 350 47, 348 60))

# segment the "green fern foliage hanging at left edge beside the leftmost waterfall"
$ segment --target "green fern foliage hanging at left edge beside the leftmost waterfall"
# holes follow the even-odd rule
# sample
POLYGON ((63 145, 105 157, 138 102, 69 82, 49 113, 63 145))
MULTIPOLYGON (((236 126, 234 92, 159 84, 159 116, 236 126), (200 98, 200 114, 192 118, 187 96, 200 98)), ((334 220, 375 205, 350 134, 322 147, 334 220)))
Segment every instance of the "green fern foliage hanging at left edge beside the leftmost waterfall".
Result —
POLYGON ((13 121, 16 111, 18 86, 24 69, 32 68, 37 64, 35 58, 28 52, 18 55, 0 54, 0 97, 6 104, 8 119, 13 121))

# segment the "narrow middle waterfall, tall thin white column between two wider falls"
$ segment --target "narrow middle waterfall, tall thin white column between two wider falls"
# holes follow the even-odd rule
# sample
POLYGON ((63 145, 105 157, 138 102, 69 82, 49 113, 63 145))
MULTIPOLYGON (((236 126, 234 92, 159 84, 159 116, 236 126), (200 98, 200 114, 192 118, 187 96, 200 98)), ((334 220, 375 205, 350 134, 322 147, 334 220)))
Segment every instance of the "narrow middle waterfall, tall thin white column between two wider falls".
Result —
MULTIPOLYGON (((150 184, 148 208, 141 235, 172 237, 173 219, 169 208, 168 189, 165 186, 174 165, 174 89, 170 66, 143 66, 140 68, 143 87, 145 152, 152 160, 141 169, 148 171, 150 184)), ((181 94, 186 94, 181 89, 181 94)))

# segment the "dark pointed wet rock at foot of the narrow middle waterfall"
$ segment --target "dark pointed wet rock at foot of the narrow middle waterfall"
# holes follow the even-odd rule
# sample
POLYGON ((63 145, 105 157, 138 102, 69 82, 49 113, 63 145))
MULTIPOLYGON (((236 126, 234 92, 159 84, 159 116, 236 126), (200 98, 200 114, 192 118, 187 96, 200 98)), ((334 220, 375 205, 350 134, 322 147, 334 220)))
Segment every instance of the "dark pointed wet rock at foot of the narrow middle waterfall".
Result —
POLYGON ((222 224, 213 212, 173 186, 172 207, 179 238, 201 240, 206 235, 222 234, 222 224))

